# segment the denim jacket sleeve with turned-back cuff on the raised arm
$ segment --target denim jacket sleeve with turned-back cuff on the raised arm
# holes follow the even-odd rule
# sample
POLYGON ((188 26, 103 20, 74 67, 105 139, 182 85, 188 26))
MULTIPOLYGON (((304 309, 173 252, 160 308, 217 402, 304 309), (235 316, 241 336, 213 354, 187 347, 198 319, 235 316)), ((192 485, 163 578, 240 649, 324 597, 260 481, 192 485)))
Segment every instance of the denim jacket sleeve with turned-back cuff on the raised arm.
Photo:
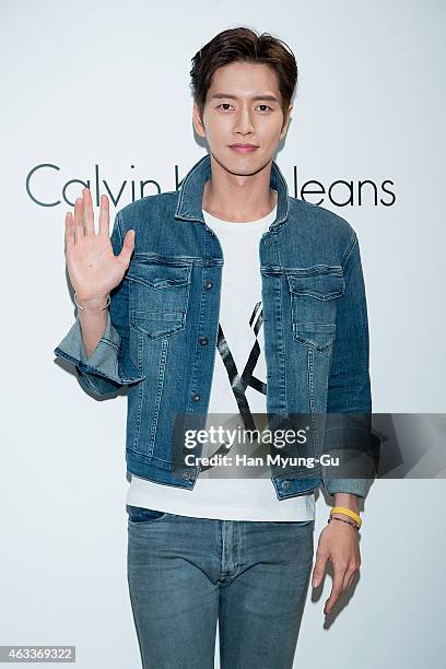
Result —
MULTIPOLYGON (((115 256, 124 243, 121 213, 115 218, 110 243, 115 256)), ((54 353, 72 363, 81 386, 93 395, 117 392, 122 386, 141 382, 140 374, 129 355, 129 297, 128 281, 110 292, 107 326, 93 353, 87 357, 79 317, 54 353)))

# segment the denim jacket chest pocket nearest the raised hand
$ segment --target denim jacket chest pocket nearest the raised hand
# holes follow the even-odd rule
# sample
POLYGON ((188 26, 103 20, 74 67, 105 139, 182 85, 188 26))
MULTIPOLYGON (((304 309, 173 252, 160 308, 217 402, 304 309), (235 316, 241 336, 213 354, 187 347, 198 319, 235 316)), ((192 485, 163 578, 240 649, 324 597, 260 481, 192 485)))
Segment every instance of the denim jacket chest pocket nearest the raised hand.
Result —
POLYGON ((150 338, 183 330, 189 301, 191 263, 133 260, 129 281, 130 325, 150 338))

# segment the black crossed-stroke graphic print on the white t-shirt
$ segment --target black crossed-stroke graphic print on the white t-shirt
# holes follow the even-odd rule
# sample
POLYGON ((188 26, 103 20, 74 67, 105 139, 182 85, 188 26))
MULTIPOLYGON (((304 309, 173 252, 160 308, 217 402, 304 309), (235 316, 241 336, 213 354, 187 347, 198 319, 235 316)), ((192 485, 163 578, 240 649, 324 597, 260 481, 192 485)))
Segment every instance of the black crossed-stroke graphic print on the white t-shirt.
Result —
MULTIPOLYGON (((244 369, 242 374, 237 371, 237 365, 235 360, 231 353, 231 349, 227 344, 226 338, 223 332, 223 328, 219 322, 219 334, 216 340, 216 348, 219 349, 220 355, 223 360, 226 374, 231 384, 232 391, 236 399, 239 414, 243 420, 244 427, 246 430, 258 430, 259 426, 256 425, 254 415, 249 408, 248 398, 246 397, 246 389, 248 386, 261 392, 262 395, 267 395, 267 383, 260 380, 257 376, 254 375, 254 371, 257 365, 257 361, 260 356, 260 344, 258 341, 258 333, 263 324, 263 309, 261 308, 261 301, 257 302, 254 306, 253 313, 249 318, 249 327, 254 331, 255 341, 253 348, 249 352, 248 360, 245 363, 244 369)), ((231 448, 227 448, 226 444, 222 444, 218 450, 215 450, 212 456, 215 455, 227 455, 231 448)), ((255 457, 255 453, 250 454, 255 457)), ((212 465, 202 465, 200 463, 200 470, 204 471, 211 469, 212 465)))

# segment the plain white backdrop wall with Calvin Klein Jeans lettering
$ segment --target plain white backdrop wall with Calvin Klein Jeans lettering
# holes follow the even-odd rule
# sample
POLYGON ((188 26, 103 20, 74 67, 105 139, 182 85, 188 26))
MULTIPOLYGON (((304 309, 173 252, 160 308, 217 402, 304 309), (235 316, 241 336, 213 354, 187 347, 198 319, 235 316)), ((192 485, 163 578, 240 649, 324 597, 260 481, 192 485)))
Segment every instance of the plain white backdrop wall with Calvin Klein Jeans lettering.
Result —
MULTIPOLYGON (((183 178, 204 152, 192 131, 190 58, 226 27, 281 37, 300 70, 277 157, 290 192, 301 197, 295 169, 298 189, 353 184, 345 207, 342 185, 331 199, 306 199, 360 238, 374 411, 445 412, 445 3, 3 0, 0 11, 0 645, 75 644, 80 669, 139 669, 126 398, 95 401, 52 354, 74 319, 62 189, 71 179, 94 189, 96 165, 114 195, 127 180, 116 209, 131 201, 131 179, 174 189, 175 166, 183 178), (27 187, 43 164, 51 166, 27 187), (376 201, 365 187, 360 203, 364 179, 376 201)), ((81 188, 68 186, 68 200, 81 188)), ((309 590, 295 667, 443 666, 445 502, 441 480, 373 485, 361 578, 331 625, 322 613, 331 578, 319 600, 309 590)), ((327 515, 320 495, 315 549, 327 515)))

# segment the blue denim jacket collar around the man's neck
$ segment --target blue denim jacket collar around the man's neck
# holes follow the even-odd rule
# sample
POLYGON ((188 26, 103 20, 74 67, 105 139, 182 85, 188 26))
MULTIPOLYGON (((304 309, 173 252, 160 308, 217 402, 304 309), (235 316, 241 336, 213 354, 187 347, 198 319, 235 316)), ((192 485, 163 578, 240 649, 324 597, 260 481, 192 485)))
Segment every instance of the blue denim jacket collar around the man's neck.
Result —
MULTIPOLYGON (((183 179, 175 219, 204 223, 202 199, 204 184, 211 176, 211 156, 206 154, 198 161, 183 179)), ((290 211, 286 181, 275 161, 271 164, 270 186, 278 191, 278 211, 270 230, 277 228, 286 221, 290 211)))

